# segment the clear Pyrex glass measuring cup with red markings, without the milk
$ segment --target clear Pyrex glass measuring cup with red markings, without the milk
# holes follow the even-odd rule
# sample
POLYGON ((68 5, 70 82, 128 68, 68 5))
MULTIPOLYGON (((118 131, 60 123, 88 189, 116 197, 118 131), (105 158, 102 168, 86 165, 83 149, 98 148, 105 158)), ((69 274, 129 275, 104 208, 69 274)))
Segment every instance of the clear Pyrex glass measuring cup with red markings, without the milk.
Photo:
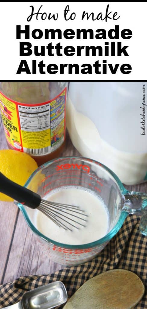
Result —
POLYGON ((100 197, 108 209, 109 230, 107 235, 95 242, 67 245, 63 239, 63 242, 59 243, 38 231, 35 210, 17 203, 41 247, 56 263, 67 266, 78 265, 97 256, 119 231, 128 214, 141 216, 140 231, 143 235, 147 235, 147 194, 129 192, 108 167, 95 160, 83 157, 52 160, 36 169, 25 184, 25 187, 38 193, 42 198, 51 190, 65 186, 90 189, 100 197))

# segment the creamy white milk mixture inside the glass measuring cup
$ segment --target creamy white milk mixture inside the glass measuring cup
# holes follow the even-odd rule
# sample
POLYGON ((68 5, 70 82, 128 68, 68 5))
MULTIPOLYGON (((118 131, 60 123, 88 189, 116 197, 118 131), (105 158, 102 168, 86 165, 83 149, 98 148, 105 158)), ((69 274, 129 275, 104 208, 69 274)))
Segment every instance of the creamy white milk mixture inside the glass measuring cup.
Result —
MULTIPOLYGON (((58 190, 52 190, 43 199, 79 206, 88 215, 86 217, 87 222, 84 223, 85 226, 80 226, 80 229, 73 227, 72 231, 69 231, 57 226, 39 211, 37 214, 37 229, 53 241, 68 245, 81 245, 94 242, 108 233, 108 210, 104 202, 91 190, 74 186, 62 187, 58 190)), ((76 220, 79 221, 79 219, 75 218, 76 220)))

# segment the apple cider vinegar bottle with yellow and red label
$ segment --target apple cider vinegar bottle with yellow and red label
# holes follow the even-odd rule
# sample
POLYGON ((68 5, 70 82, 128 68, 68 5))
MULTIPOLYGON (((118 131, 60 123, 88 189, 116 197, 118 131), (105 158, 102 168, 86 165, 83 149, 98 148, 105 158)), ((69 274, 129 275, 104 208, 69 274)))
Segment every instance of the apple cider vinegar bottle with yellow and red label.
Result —
POLYGON ((38 165, 60 155, 66 133, 65 82, 1 82, 0 112, 10 149, 38 165))

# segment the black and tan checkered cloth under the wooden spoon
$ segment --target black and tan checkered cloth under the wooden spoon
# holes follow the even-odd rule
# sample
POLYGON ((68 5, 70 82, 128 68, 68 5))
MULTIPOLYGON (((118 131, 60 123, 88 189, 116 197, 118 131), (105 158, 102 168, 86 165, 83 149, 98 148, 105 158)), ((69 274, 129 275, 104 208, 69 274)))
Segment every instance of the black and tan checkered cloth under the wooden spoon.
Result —
MULTIPOLYGON (((117 268, 136 273, 147 287, 147 237, 139 231, 139 220, 135 215, 128 216, 120 231, 90 262, 49 275, 20 277, 0 286, 0 308, 18 302, 28 290, 58 280, 65 284, 70 298, 88 279, 117 268)), ((136 308, 147 308, 146 292, 136 308)))

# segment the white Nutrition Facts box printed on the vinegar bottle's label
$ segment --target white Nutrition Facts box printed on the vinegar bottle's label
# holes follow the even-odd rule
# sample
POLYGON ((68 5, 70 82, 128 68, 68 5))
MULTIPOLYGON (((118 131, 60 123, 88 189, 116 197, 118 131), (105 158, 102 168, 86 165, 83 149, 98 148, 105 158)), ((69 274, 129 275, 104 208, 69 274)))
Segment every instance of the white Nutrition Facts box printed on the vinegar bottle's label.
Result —
POLYGON ((23 131, 50 129, 50 104, 40 106, 18 105, 20 127, 23 131))

